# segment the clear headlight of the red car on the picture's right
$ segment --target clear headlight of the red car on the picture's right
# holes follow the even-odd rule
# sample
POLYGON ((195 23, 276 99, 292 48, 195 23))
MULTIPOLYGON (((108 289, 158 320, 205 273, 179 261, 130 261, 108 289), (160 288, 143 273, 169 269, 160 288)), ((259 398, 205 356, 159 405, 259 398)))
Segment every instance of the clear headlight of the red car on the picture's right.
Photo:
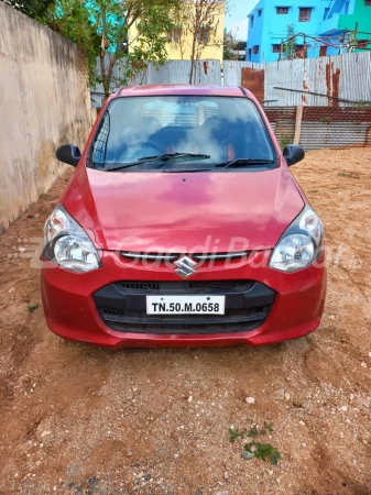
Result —
POLYGON ((270 267, 281 272, 296 272, 315 263, 323 252, 324 226, 307 206, 291 223, 274 248, 270 267))

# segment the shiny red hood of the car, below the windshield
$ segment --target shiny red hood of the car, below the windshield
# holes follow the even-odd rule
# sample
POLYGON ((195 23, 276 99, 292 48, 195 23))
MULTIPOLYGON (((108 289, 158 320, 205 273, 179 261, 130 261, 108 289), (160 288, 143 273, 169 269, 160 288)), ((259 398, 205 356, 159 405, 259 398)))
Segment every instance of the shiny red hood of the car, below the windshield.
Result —
POLYGON ((273 248, 304 200, 286 166, 198 173, 81 167, 64 206, 105 250, 225 253, 273 248))

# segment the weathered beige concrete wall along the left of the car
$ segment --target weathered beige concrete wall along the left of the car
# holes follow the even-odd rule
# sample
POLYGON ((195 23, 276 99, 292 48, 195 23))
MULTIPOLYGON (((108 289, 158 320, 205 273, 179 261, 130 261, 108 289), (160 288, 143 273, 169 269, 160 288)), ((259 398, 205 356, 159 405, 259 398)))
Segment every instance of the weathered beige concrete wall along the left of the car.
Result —
POLYGON ((77 47, 0 2, 0 233, 65 170, 56 147, 90 127, 77 47))

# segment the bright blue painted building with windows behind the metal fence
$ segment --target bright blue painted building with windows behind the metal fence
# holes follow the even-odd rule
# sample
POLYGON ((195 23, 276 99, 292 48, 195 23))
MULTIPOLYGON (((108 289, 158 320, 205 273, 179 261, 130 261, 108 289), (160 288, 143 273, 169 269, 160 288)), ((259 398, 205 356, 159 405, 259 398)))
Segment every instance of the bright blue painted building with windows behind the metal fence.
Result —
POLYGON ((303 56, 304 45, 308 58, 343 52, 339 18, 351 14, 358 1, 365 0, 260 0, 248 15, 247 61, 277 61, 288 25, 295 34, 306 34, 295 38, 298 56, 303 56))

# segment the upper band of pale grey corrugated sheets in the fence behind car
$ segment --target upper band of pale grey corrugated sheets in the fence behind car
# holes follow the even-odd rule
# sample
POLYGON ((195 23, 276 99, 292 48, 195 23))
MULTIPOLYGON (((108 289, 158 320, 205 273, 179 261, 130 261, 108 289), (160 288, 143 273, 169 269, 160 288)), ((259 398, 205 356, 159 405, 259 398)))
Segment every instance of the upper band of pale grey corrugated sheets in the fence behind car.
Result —
MULTIPOLYGON (((99 70, 99 59, 97 61, 99 70)), ((122 75, 124 63, 117 63, 114 80, 122 75)), ((129 81, 129 86, 187 84, 190 61, 171 61, 163 66, 149 65, 129 81)), ((347 53, 317 58, 254 64, 251 62, 199 61, 196 84, 243 86, 268 107, 354 107, 371 103, 371 52, 347 53)), ((91 90, 94 107, 100 107, 101 85, 91 90)))

